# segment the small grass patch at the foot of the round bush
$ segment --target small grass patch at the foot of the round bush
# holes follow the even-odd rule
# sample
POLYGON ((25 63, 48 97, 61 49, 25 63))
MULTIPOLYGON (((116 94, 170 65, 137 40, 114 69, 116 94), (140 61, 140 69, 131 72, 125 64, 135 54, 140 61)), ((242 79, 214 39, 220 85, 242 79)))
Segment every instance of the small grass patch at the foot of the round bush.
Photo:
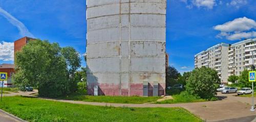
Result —
POLYGON ((191 102, 205 102, 206 99, 201 99, 200 97, 196 97, 193 95, 188 95, 185 92, 181 94, 173 95, 173 99, 165 100, 161 102, 156 102, 156 104, 174 104, 174 103, 191 103, 191 102))

